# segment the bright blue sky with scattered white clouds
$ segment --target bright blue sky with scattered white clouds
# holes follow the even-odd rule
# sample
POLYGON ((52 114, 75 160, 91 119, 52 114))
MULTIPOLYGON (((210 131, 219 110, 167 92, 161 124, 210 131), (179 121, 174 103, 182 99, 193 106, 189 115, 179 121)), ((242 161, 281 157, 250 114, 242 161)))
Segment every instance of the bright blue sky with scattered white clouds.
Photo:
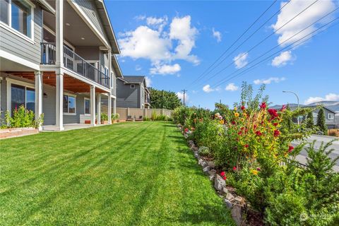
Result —
MULTIPOLYGON (((294 45, 290 51, 276 54, 273 56, 276 57, 274 60, 264 61, 249 73, 220 83, 234 71, 240 72, 255 64, 251 64, 251 61, 277 44, 280 44, 279 47, 270 54, 292 44, 294 38, 304 37, 339 17, 338 9, 289 39, 339 6, 338 1, 326 0, 318 1, 307 8, 312 2, 292 1, 279 11, 284 1, 277 1, 225 54, 230 54, 230 57, 209 74, 204 74, 196 83, 193 83, 196 78, 206 71, 273 1, 106 0, 105 4, 119 40, 119 63, 124 75, 147 76, 151 86, 160 90, 178 93, 186 88, 189 90, 189 105, 213 109, 214 103, 219 100, 227 105, 239 101, 242 81, 253 84, 254 89, 259 87, 259 83, 266 83, 266 94, 274 104, 296 102, 295 96, 282 93, 283 90, 297 92, 302 104, 317 100, 339 101, 339 20, 335 20, 331 23, 334 25, 332 28, 319 35, 308 36, 311 39, 307 42, 298 42, 299 44, 294 45), (304 8, 307 10, 280 28, 304 8), (277 11, 279 13, 273 16, 277 11), (263 28, 232 53, 233 49, 270 16, 273 18, 263 28), (275 34, 249 52, 251 47, 272 32, 275 34), (215 75, 229 64, 232 65, 215 75), (212 76, 214 77, 211 78, 212 76)), ((182 97, 182 94, 178 95, 182 97)))

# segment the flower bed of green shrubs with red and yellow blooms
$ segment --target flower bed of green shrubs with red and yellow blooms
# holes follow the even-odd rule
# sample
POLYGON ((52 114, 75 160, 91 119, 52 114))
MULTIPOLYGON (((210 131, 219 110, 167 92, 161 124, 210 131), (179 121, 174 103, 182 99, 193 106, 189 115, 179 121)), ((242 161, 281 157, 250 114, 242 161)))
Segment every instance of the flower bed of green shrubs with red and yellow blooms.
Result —
MULTIPOLYGON (((174 110, 174 121, 185 138, 192 140, 189 145, 195 147, 194 155, 215 181, 215 188, 218 192, 234 188, 232 196, 244 197, 246 204, 240 212, 246 213, 247 223, 250 215, 261 216, 266 225, 335 225, 339 174, 333 172, 336 160, 329 157, 331 143, 319 150, 314 143, 290 145, 312 133, 304 123, 292 123, 294 117, 311 109, 270 109, 265 101, 258 102, 259 97, 242 97, 233 109, 218 104, 214 112, 188 107, 174 110), (309 156, 305 169, 295 161, 301 150, 309 156), (215 165, 213 171, 210 162, 215 165)), ((228 206, 232 199, 227 198, 227 191, 220 195, 228 206)))

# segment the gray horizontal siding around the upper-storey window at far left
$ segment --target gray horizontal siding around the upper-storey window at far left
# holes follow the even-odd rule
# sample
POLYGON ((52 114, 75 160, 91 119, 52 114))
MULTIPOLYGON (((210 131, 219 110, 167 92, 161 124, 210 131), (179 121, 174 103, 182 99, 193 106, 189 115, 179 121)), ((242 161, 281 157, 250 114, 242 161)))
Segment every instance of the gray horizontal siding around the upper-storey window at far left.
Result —
POLYGON ((40 64, 42 36, 42 10, 35 5, 34 9, 34 44, 24 40, 13 32, 0 28, 0 49, 14 54, 35 64, 40 64))

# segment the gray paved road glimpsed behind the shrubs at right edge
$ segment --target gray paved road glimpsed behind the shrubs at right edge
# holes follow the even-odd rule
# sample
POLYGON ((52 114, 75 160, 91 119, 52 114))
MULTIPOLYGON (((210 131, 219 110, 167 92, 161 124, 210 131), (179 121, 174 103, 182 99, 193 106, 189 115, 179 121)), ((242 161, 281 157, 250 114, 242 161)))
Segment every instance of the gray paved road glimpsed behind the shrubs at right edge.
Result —
MULTIPOLYGON (((312 135, 309 138, 307 138, 308 142, 312 142, 316 140, 316 144, 315 144, 315 148, 319 148, 321 145, 321 142, 323 143, 328 143, 329 141, 333 140, 333 137, 331 136, 318 136, 318 135, 312 135)), ((300 142, 298 141, 293 141, 292 145, 296 146, 298 145, 300 142)), ((339 156, 339 141, 334 141, 333 144, 331 145, 331 148, 334 148, 335 150, 333 151, 333 153, 331 153, 330 157, 331 158, 335 158, 339 156)), ((300 155, 297 156, 297 160, 300 163, 305 164, 306 163, 306 157, 307 157, 307 152, 306 150, 302 150, 302 152, 300 153, 300 155)), ((335 167, 334 167, 335 171, 339 172, 339 160, 337 161, 335 167)))

